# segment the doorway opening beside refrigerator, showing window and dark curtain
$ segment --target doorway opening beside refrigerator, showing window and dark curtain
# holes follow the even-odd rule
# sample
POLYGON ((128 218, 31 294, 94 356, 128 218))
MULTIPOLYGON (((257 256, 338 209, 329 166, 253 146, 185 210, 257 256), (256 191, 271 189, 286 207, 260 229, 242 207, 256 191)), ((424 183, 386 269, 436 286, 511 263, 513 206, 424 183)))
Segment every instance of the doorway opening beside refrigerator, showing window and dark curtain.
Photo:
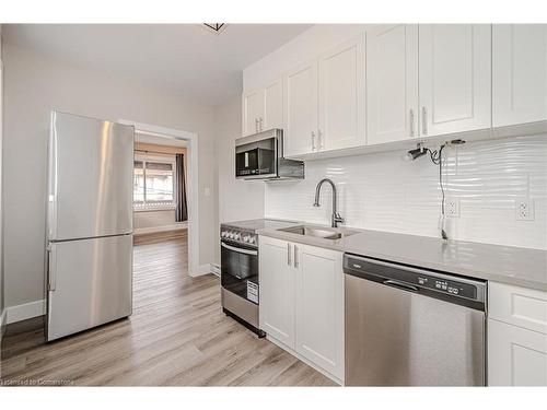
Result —
MULTIPOLYGON (((170 259, 199 276, 198 136, 171 128, 119 120, 136 133, 133 177, 135 255, 170 259), (158 251, 165 243, 167 254, 158 251), (141 244, 155 244, 144 251, 141 244), (139 248, 140 247, 140 248, 139 248), (161 246, 160 246, 161 247, 161 246)), ((147 263, 144 263, 147 265, 147 263)), ((137 265, 135 266, 137 270, 137 265)), ((136 278, 138 272, 136 271, 136 278)))

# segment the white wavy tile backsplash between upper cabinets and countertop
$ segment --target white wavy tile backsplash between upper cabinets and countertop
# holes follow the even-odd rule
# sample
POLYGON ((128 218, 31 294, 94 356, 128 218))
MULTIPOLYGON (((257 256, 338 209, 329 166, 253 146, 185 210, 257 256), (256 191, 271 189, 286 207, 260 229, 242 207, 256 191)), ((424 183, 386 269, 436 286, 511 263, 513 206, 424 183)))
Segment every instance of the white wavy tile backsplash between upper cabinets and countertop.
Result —
MULTIPOLYGON (((304 180, 266 184, 265 214, 328 224, 328 185, 322 206, 313 207, 317 181, 328 177, 347 226, 439 236, 439 168, 427 156, 405 162, 401 154, 309 161, 304 180)), ((547 249, 547 136, 469 142, 443 156, 446 196, 459 200, 459 216, 446 218, 450 237, 547 249), (516 220, 515 199, 522 197, 534 200, 533 221, 516 220)))

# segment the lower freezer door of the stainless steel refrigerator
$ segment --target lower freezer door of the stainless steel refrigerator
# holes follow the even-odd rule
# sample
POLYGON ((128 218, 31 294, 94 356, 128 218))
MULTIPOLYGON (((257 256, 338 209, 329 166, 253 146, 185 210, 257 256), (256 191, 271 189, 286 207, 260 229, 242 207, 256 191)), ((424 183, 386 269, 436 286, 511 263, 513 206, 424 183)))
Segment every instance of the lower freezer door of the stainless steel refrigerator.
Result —
POLYGON ((131 314, 132 235, 50 244, 47 340, 131 314))

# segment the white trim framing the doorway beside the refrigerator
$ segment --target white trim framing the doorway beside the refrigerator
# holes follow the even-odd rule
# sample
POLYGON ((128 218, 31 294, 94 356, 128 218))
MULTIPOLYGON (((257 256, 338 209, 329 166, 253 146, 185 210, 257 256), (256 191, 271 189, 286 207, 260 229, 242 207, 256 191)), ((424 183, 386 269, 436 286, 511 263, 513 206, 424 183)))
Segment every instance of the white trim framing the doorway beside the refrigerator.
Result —
POLYGON ((182 131, 174 128, 137 122, 127 119, 119 119, 118 122, 133 126, 135 132, 165 137, 175 140, 184 140, 188 142, 188 274, 190 277, 198 277, 200 274, 208 273, 209 263, 207 263, 207 267, 200 267, 199 265, 198 134, 196 132, 182 131))

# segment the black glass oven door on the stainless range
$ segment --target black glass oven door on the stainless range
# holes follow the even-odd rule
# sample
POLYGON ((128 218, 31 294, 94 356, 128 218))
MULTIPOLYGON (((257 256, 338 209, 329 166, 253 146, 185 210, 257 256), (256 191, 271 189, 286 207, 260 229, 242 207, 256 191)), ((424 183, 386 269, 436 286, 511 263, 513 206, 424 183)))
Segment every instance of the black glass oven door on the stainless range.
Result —
POLYGON ((258 304, 258 249, 222 241, 222 288, 258 304))

